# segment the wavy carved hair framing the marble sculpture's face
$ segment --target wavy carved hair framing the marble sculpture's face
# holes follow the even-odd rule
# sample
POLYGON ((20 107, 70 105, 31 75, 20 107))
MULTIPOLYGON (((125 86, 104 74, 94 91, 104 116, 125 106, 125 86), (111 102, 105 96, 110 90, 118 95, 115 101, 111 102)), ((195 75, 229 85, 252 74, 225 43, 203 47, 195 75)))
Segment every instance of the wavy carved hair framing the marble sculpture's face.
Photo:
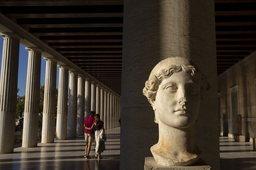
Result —
POLYGON ((161 70, 159 73, 150 76, 149 80, 145 82, 145 87, 143 88, 143 94, 148 98, 149 103, 155 101, 157 90, 163 79, 170 77, 173 73, 178 73, 180 71, 191 72, 192 76, 200 76, 201 85, 201 98, 204 99, 208 96, 211 86, 208 83, 206 75, 202 74, 199 70, 195 69, 194 66, 186 65, 170 65, 167 69, 161 70))

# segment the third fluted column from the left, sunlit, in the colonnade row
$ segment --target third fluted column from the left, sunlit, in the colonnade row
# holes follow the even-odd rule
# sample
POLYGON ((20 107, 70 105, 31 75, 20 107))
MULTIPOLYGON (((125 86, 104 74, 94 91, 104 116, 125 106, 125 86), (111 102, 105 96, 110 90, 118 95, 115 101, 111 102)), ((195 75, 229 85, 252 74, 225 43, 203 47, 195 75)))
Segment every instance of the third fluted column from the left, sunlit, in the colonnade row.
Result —
POLYGON ((42 143, 46 144, 54 142, 57 62, 53 59, 44 59, 46 60, 46 68, 43 101, 42 143))

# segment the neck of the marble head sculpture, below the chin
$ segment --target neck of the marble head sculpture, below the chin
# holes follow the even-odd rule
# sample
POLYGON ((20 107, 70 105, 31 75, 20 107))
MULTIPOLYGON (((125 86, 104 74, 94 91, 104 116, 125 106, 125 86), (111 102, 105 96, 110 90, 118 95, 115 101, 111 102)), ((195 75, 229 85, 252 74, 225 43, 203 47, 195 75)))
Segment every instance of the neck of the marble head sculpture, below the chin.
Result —
POLYGON ((167 126, 158 120, 159 124, 159 140, 158 145, 163 152, 170 150, 188 151, 193 153, 195 151, 195 128, 194 125, 184 129, 176 129, 167 126))

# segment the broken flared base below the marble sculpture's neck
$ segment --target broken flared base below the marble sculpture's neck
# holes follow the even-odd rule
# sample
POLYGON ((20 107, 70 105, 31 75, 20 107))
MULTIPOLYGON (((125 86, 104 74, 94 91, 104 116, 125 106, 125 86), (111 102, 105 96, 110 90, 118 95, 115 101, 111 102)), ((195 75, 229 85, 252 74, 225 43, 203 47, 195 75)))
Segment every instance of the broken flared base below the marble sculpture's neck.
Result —
POLYGON ((165 166, 188 166, 198 161, 201 151, 196 147, 196 153, 184 152, 163 152, 157 144, 151 148, 151 153, 156 162, 165 166))

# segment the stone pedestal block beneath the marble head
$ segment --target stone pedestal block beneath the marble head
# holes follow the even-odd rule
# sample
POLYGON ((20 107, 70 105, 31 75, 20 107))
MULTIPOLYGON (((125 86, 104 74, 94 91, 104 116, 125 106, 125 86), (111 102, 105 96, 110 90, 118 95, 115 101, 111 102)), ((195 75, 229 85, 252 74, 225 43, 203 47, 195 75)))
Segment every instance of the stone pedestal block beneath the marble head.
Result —
POLYGON ((211 170, 212 168, 207 165, 205 161, 199 159, 196 163, 191 166, 164 166, 159 165, 155 161, 154 157, 146 157, 144 170, 211 170))

